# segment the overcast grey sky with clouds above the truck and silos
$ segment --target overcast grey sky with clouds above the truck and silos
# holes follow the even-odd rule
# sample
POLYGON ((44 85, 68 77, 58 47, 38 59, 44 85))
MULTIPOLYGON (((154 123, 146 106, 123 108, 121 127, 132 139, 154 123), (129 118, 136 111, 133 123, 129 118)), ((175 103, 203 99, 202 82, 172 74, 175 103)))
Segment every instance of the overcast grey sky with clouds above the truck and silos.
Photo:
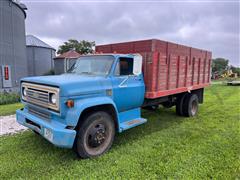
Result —
POLYGON ((68 39, 108 44, 161 39, 240 66, 238 0, 21 0, 26 33, 54 48, 68 39))

